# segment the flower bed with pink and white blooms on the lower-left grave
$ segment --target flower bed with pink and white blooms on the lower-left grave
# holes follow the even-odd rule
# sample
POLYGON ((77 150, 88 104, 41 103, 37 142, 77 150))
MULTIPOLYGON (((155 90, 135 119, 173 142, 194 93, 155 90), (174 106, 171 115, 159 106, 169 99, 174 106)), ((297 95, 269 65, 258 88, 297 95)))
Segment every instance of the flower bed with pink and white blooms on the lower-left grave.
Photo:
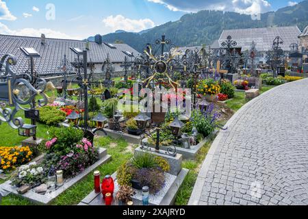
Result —
POLYGON ((63 170, 64 179, 68 179, 97 162, 97 149, 83 135, 83 131, 73 128, 51 129, 51 140, 40 144, 40 149, 46 153, 40 164, 18 168, 13 185, 34 188, 46 183, 57 170, 63 170))

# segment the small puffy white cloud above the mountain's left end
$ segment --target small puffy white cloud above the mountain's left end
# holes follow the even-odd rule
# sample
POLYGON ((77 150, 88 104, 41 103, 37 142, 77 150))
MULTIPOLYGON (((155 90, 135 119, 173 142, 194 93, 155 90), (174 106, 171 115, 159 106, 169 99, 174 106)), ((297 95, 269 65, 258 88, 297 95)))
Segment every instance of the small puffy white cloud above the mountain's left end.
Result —
POLYGON ((112 31, 121 29, 125 31, 138 32, 155 26, 154 22, 149 18, 133 20, 125 18, 120 14, 104 18, 103 23, 106 27, 110 27, 112 31))

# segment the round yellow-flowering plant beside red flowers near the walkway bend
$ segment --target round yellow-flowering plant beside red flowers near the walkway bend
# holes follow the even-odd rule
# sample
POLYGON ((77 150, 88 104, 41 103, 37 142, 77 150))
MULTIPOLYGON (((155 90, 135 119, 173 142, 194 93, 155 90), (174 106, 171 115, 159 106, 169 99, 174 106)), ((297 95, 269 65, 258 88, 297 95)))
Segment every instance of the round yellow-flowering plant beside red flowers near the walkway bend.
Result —
POLYGON ((196 88, 198 94, 207 101, 214 101, 217 98, 217 94, 220 92, 219 83, 214 79, 202 80, 198 83, 196 88))

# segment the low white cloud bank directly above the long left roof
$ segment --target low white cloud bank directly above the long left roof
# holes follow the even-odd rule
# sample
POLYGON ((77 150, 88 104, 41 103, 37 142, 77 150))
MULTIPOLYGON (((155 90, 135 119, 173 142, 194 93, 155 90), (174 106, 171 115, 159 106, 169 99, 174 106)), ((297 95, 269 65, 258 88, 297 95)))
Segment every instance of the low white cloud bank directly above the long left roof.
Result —
POLYGON ((10 29, 8 26, 0 22, 0 33, 6 35, 16 35, 16 36, 35 36, 40 37, 41 34, 45 34, 47 38, 60 38, 60 39, 74 39, 79 40, 80 38, 74 38, 73 36, 68 36, 60 31, 55 31, 53 29, 41 28, 23 28, 23 29, 10 29))

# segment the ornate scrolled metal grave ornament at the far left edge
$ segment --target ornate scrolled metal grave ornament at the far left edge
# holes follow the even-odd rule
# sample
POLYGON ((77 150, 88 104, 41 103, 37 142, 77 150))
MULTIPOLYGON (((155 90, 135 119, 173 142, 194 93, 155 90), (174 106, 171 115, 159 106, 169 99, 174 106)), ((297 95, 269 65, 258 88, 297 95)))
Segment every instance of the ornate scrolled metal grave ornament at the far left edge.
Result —
POLYGON ((13 55, 4 55, 0 60, 0 100, 8 101, 10 108, 0 108, 0 124, 8 123, 13 129, 23 127, 23 118, 17 117, 16 113, 19 110, 29 111, 33 109, 37 95, 42 96, 38 101, 38 105, 47 105, 49 97, 44 94, 47 88, 47 81, 42 78, 36 78, 34 75, 29 75, 27 72, 17 75, 12 70, 12 66, 16 65, 17 60, 13 55), (21 96, 21 86, 29 90, 29 96, 25 99, 21 96), (25 107, 30 105, 29 108, 25 107))

